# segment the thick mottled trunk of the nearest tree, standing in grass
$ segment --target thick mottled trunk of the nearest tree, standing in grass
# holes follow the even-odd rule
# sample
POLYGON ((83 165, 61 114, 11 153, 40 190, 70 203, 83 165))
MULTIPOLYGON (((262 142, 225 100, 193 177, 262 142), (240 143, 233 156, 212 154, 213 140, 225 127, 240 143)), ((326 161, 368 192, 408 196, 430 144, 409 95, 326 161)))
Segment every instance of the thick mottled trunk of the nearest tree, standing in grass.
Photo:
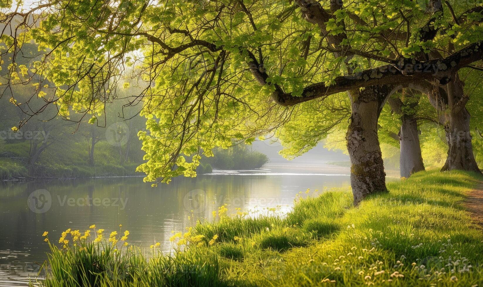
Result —
POLYGON ((371 193, 387 191, 377 121, 389 92, 386 86, 349 92, 352 115, 346 140, 351 159, 354 205, 371 193))

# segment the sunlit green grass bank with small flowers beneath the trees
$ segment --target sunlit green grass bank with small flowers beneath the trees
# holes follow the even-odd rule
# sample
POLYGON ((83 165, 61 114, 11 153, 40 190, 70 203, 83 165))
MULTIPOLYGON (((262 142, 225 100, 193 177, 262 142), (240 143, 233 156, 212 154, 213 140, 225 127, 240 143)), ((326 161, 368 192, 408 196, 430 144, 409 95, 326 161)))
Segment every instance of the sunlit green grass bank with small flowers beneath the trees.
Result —
POLYGON ((43 284, 475 286, 483 282, 483 234, 462 201, 481 180, 422 172, 389 183, 388 193, 357 208, 350 191, 334 190, 298 199, 286 216, 273 210, 226 216, 221 208, 215 222, 181 236, 184 251, 150 260, 136 248, 113 253, 107 244, 62 251, 52 245, 43 284))

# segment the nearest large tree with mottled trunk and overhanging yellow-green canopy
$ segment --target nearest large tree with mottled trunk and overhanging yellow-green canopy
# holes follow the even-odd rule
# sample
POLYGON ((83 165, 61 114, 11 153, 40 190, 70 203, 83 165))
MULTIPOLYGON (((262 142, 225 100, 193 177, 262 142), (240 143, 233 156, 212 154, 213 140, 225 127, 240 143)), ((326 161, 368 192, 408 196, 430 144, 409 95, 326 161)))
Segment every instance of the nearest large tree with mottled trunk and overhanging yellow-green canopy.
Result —
POLYGON ((149 130, 140 133, 148 162, 139 170, 164 182, 195 176, 201 150, 250 142, 283 123, 294 105, 347 92, 358 204, 386 191, 377 122, 388 96, 451 84, 482 59, 482 9, 456 2, 443 13, 430 3, 57 0, 3 15, 3 23, 17 22, 2 35, 13 60, 30 39, 43 49, 33 67, 9 66, 6 88, 42 75, 57 87, 48 103, 62 116, 69 107, 95 113, 116 98, 125 66, 137 65, 147 87, 136 101, 149 130))

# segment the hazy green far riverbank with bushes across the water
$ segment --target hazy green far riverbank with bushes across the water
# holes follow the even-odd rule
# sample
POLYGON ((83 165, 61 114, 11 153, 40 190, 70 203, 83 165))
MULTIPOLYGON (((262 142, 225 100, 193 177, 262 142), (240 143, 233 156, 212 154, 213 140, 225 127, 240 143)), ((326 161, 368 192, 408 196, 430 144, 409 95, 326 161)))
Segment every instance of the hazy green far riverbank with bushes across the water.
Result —
MULTIPOLYGON (((141 148, 116 147, 99 141, 90 160, 86 146, 72 143, 46 149, 32 159, 31 143, 19 141, 5 143, 0 140, 0 181, 30 181, 36 179, 67 179, 139 176, 136 172, 144 163, 141 148), (129 150, 130 148, 130 150, 129 150), (30 163, 34 164, 30 164, 30 163)), ((269 162, 268 157, 246 145, 235 145, 230 149, 214 149, 213 157, 202 156, 196 169, 198 174, 209 174, 213 168, 239 170, 256 169, 269 162), (238 159, 234 161, 233 159, 238 159)))

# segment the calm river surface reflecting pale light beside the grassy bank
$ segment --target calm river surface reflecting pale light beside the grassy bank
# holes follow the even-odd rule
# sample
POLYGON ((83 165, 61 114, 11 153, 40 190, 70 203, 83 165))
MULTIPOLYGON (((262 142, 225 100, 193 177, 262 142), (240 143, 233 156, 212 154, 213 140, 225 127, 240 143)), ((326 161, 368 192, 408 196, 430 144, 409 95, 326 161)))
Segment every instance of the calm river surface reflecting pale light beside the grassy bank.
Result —
POLYGON ((129 230, 130 244, 160 242, 170 251, 171 231, 193 225, 188 216, 210 218, 228 204, 232 211, 287 212, 298 191, 349 186, 346 167, 272 165, 253 171, 215 171, 175 178, 152 188, 142 178, 88 178, 0 185, 0 286, 27 286, 46 260, 48 246, 67 228, 81 232, 96 224, 108 232, 129 230))

